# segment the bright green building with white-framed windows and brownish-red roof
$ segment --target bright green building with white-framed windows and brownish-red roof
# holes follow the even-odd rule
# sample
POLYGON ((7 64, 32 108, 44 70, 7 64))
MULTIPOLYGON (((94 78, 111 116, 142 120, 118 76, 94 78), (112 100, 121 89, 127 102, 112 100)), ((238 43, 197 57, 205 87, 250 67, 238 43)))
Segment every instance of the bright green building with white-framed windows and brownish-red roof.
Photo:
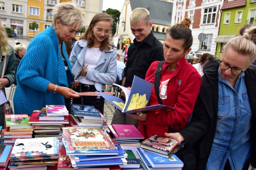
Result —
POLYGON ((245 24, 255 24, 256 0, 224 0, 221 7, 219 34, 216 37, 216 55, 221 57, 226 42, 239 35, 245 24))

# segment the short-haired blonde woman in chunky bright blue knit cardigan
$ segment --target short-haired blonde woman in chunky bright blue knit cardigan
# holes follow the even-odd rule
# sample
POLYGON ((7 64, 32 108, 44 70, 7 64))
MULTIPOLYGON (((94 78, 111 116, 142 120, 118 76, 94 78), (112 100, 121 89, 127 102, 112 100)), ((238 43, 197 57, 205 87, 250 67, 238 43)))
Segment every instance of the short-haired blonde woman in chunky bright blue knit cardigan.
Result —
POLYGON ((47 104, 64 105, 64 97, 79 97, 69 88, 74 78, 64 42, 76 36, 84 18, 80 8, 70 2, 56 4, 52 14, 52 26, 30 42, 18 67, 15 114, 30 116, 47 104))

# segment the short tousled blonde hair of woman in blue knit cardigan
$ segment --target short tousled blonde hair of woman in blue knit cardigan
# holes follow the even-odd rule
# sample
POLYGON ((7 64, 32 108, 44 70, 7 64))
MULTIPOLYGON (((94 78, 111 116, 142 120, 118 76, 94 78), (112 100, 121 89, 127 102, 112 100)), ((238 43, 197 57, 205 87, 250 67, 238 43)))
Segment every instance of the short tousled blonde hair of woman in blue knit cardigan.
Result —
POLYGON ((62 2, 54 5, 53 10, 53 26, 56 26, 56 20, 59 19, 62 25, 76 24, 78 29, 84 25, 84 16, 81 8, 77 4, 71 2, 62 2))

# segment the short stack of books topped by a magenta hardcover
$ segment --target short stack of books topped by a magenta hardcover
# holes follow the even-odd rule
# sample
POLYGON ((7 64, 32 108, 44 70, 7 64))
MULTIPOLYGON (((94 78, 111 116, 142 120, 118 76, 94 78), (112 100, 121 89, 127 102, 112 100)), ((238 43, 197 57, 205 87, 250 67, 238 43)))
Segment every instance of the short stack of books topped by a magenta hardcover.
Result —
POLYGON ((109 125, 108 129, 111 131, 114 140, 118 144, 124 143, 139 143, 139 139, 144 139, 134 125, 109 125))

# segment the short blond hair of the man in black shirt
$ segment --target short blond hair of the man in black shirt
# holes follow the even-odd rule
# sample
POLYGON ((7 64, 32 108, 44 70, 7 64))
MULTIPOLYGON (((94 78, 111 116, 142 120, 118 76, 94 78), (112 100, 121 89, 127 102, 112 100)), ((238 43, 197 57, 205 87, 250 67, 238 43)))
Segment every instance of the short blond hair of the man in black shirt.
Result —
POLYGON ((148 27, 149 22, 151 21, 149 11, 145 8, 135 8, 130 16, 130 21, 133 23, 139 22, 143 19, 148 27))

